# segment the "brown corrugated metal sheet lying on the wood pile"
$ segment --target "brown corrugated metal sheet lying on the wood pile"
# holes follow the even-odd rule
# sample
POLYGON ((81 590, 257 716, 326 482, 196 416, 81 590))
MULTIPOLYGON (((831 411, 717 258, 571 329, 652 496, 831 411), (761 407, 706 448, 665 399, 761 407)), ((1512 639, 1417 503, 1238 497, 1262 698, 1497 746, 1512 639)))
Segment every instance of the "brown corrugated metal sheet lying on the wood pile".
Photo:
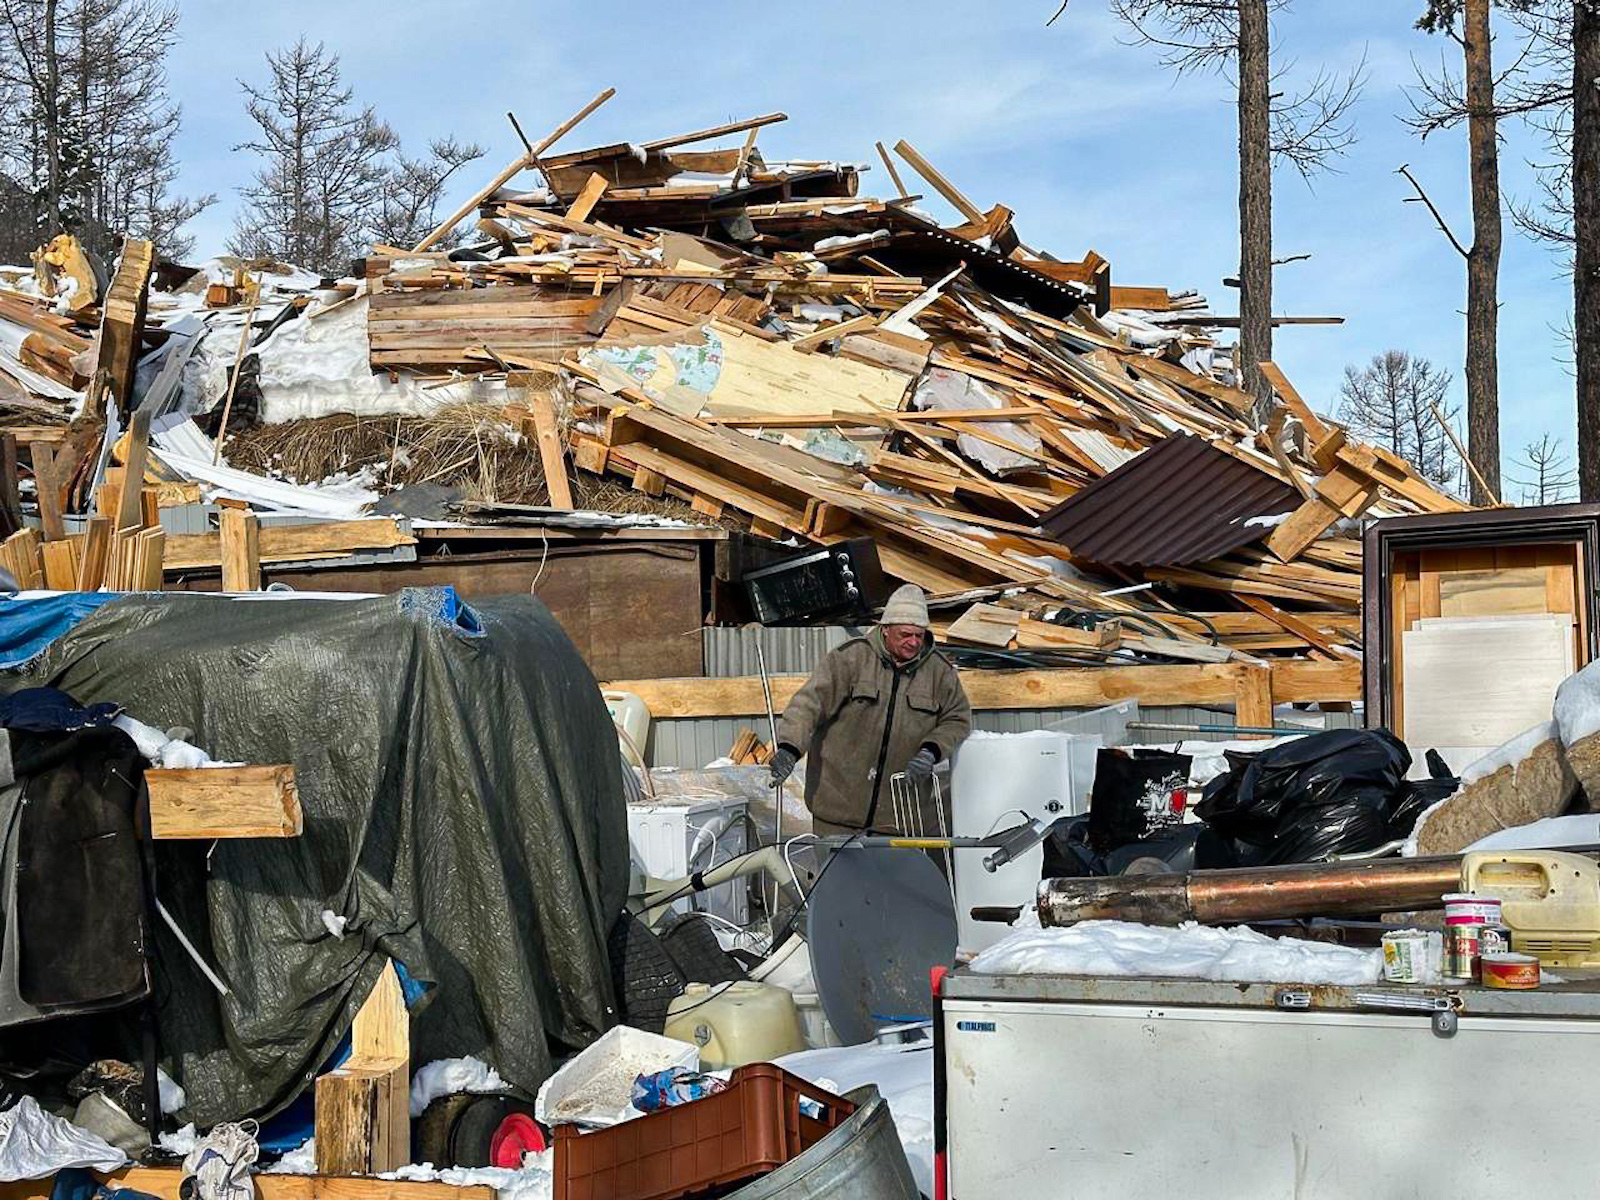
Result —
POLYGON ((1251 517, 1299 493, 1189 434, 1173 434, 1040 517, 1072 554, 1107 566, 1205 562, 1267 534, 1251 517))

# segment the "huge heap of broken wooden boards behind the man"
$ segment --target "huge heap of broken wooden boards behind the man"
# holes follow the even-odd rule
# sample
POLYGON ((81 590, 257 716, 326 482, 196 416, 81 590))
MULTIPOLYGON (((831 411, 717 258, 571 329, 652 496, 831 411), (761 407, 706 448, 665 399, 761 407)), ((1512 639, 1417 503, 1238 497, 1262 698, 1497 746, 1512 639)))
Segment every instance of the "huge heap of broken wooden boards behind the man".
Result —
MULTIPOLYGON (((952 642, 1077 659, 1339 658, 1360 646, 1360 544, 1341 522, 1464 507, 1270 365, 1258 419, 1214 338, 1229 322, 1198 298, 1030 248, 1008 208, 979 210, 906 142, 899 162, 878 144, 890 198, 861 192, 859 166, 768 162, 755 136, 779 120, 530 147, 458 214, 478 210, 480 242, 360 264, 374 370, 506 373, 547 475, 565 443, 578 470, 757 533, 870 536, 890 574, 978 602, 946 608, 952 642), (736 144, 680 149, 717 138, 736 144), (522 168, 544 187, 507 190, 522 168), (963 221, 928 218, 910 173, 963 221), (1290 502, 1235 514, 1259 528, 1226 554, 1131 571, 1048 533, 1059 506, 1181 435, 1290 502), (1126 590, 1141 582, 1162 587, 1126 590), (1099 619, 1062 624, 1080 613, 1099 619)), ((1205 482, 1157 486, 1205 507, 1205 482)))

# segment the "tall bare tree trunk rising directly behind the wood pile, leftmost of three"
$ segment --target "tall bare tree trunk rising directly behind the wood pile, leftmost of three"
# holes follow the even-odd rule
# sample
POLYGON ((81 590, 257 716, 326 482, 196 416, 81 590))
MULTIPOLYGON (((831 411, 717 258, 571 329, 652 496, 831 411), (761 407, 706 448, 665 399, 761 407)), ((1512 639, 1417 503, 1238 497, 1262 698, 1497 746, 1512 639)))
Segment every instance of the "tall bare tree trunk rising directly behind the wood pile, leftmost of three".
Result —
POLYGON ((1245 390, 1266 413, 1272 389, 1272 139, 1267 0, 1238 0, 1238 350, 1245 390))

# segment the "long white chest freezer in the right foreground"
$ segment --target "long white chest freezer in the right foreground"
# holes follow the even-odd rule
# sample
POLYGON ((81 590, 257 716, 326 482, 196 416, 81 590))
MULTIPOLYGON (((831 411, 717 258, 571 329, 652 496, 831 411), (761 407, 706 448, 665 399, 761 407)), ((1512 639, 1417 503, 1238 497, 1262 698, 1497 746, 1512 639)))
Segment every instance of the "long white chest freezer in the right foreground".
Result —
POLYGON ((1600 976, 1450 997, 957 971, 936 1018, 947 1197, 1595 1195, 1600 976), (1390 1011, 1419 997, 1459 1013, 1390 1011))

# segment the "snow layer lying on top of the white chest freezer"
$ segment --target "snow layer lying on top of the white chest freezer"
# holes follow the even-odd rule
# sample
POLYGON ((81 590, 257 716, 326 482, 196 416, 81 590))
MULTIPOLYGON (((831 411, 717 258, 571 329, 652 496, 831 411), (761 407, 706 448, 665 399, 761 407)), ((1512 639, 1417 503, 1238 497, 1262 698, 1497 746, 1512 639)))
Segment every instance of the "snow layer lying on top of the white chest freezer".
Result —
POLYGON ((1350 986, 1378 982, 1382 952, 1267 938, 1245 926, 1082 922, 1066 930, 1018 930, 979 954, 970 970, 1350 986))

